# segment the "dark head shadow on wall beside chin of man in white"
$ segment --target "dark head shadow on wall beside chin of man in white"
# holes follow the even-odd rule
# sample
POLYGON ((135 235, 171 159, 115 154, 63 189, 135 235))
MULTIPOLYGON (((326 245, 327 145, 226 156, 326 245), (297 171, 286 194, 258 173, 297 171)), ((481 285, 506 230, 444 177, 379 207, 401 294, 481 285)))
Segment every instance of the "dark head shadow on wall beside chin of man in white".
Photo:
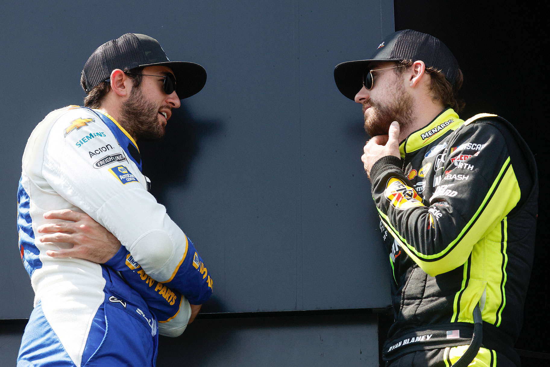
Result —
POLYGON ((165 202, 170 185, 188 183, 191 163, 200 154, 201 144, 221 130, 221 122, 197 120, 182 103, 182 107, 173 110, 162 140, 138 141, 143 172, 151 179, 150 192, 158 202, 165 202))

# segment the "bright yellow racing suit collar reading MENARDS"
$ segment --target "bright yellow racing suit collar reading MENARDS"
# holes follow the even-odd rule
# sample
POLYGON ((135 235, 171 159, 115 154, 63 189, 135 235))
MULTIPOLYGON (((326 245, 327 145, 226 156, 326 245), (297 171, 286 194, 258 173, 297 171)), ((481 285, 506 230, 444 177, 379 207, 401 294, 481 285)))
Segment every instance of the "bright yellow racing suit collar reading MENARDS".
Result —
POLYGON ((405 158, 405 154, 414 152, 421 149, 423 146, 431 144, 449 130, 456 130, 463 123, 464 120, 458 117, 454 109, 444 109, 425 127, 416 130, 405 140, 401 141, 401 144, 399 144, 401 158, 405 158))

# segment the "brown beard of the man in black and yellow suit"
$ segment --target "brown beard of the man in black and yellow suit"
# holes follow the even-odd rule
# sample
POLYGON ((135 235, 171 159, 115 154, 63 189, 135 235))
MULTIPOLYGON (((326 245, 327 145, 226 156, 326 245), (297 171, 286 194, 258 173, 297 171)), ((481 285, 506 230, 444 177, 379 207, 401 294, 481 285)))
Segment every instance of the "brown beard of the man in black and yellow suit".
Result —
POLYGON ((372 98, 364 102, 371 106, 370 113, 364 116, 368 135, 388 135, 389 125, 394 121, 399 123, 401 131, 412 124, 412 97, 405 92, 403 86, 396 87, 393 101, 393 105, 386 106, 372 98))

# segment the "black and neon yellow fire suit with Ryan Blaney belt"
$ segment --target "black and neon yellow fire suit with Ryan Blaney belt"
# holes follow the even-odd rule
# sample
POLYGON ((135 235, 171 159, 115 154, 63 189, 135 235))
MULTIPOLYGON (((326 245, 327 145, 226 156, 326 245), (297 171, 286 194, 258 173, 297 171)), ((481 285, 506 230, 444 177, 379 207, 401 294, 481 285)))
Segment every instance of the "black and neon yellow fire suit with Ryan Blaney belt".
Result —
POLYGON ((531 151, 503 118, 479 114, 464 122, 453 109, 399 148, 401 160, 383 157, 370 172, 394 277, 395 322, 384 359, 438 349, 444 361, 434 365, 452 364, 460 355, 450 348, 469 344, 479 304, 490 365, 497 357, 519 365, 513 346, 537 213, 531 151))

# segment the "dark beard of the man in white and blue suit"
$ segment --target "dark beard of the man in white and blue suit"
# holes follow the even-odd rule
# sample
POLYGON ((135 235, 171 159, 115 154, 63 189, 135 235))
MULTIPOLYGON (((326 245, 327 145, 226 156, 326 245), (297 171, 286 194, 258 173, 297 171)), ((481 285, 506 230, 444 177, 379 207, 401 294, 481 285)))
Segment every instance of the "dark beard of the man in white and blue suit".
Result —
POLYGON ((158 107, 147 101, 141 88, 133 88, 130 96, 120 107, 120 124, 137 140, 159 140, 164 136, 164 127, 158 122, 158 107))

